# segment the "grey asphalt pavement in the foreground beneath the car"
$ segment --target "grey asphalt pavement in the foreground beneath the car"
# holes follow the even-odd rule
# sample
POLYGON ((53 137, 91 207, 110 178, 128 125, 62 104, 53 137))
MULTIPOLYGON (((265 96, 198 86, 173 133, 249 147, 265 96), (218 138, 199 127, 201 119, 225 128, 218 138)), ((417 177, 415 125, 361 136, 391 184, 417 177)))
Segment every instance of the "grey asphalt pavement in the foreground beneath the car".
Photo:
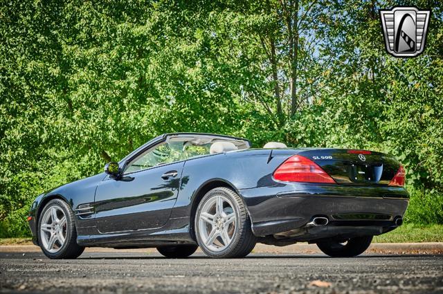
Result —
POLYGON ((0 272, 0 293, 443 293, 443 255, 165 259, 84 252, 55 261, 39 252, 0 252, 0 272))

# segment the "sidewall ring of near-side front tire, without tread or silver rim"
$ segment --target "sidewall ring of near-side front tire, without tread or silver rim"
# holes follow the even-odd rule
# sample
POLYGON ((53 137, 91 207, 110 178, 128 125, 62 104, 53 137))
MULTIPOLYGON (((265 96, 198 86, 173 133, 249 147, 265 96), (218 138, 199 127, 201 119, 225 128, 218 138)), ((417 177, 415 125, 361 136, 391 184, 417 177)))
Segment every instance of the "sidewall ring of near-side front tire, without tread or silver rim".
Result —
POLYGON ((68 205, 66 205, 66 203, 60 199, 53 199, 49 201, 43 208, 42 212, 39 214, 38 227, 37 227, 38 241, 40 244, 40 248, 42 248, 42 251, 44 252, 44 255, 46 255, 51 259, 58 259, 60 258, 60 256, 64 255, 64 252, 66 252, 66 248, 69 246, 71 238, 73 237, 73 230, 75 230, 75 226, 73 226, 73 220, 71 219, 71 213, 68 205), (57 206, 60 209, 62 209, 66 217, 66 239, 60 250, 58 250, 55 253, 51 253, 48 250, 46 250, 46 248, 44 248, 43 246, 42 236, 40 234, 41 232, 40 227, 42 226, 42 217, 44 216, 45 212, 54 206, 57 206))

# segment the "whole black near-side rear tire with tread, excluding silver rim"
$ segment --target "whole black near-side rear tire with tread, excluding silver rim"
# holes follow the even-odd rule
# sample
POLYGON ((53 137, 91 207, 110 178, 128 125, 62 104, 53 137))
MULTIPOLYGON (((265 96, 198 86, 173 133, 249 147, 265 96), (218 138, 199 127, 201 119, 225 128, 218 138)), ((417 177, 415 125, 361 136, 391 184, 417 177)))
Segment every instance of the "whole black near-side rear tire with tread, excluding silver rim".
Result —
POLYGON ((253 235, 251 230, 251 220, 248 217, 248 212, 246 207, 242 201, 242 198, 233 190, 227 187, 217 187, 213 190, 210 190, 206 195, 201 199, 199 206, 197 208, 197 212, 195 214, 195 236, 197 237, 197 243, 199 244, 201 250, 213 258, 239 258, 245 257, 253 250, 255 244, 257 243, 257 238, 253 235), (199 234, 199 216, 201 214, 201 209, 204 207, 206 201, 209 201, 213 197, 221 195, 230 199, 233 203, 233 209, 235 210, 235 230, 233 232, 232 239, 230 244, 221 251, 210 250, 210 248, 206 247, 204 241, 202 241, 201 236, 199 234))

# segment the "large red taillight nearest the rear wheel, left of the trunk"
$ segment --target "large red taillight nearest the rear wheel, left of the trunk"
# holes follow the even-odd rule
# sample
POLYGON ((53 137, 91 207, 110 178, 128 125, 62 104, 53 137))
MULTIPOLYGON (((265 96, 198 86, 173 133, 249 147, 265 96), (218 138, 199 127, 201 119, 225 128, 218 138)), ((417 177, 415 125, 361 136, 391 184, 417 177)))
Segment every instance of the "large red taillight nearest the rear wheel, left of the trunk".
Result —
POLYGON ((300 155, 289 157, 275 169, 273 176, 284 182, 335 183, 314 161, 300 155))

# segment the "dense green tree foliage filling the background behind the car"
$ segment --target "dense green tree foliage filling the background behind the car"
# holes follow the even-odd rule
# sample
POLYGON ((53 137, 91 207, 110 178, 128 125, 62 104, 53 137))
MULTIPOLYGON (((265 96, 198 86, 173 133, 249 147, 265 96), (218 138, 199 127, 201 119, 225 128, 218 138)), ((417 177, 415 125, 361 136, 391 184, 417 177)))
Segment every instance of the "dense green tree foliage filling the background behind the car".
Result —
POLYGON ((385 151, 442 219, 439 1, 3 1, 0 17, 1 236, 28 234, 37 194, 171 131, 385 151), (432 9, 419 57, 384 50, 395 5, 432 9))

